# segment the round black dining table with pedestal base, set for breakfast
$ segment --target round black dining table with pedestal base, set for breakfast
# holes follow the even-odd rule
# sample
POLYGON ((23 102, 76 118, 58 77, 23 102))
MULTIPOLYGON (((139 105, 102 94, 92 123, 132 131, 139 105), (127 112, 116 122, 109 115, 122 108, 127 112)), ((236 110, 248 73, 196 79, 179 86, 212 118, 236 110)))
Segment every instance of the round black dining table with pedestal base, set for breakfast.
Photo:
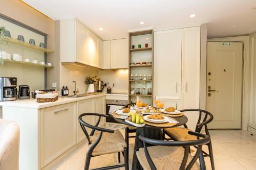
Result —
MULTIPOLYGON (((126 123, 124 121, 124 119, 115 118, 114 116, 112 116, 112 117, 119 124, 133 126, 129 123, 126 123)), ((150 125, 145 125, 143 127, 136 127, 137 129, 136 129, 132 169, 143 169, 142 166, 140 165, 140 163, 138 162, 137 156, 136 156, 136 152, 140 148, 144 148, 142 140, 139 139, 139 135, 150 138, 150 139, 162 140, 162 129, 179 127, 179 126, 182 126, 187 123, 187 117, 185 115, 180 116, 180 117, 172 117, 172 118, 175 118, 179 123, 177 125, 171 126, 171 127, 156 127, 156 126, 150 126, 150 125)), ((151 144, 146 143, 146 146, 147 147, 151 146, 151 144)))

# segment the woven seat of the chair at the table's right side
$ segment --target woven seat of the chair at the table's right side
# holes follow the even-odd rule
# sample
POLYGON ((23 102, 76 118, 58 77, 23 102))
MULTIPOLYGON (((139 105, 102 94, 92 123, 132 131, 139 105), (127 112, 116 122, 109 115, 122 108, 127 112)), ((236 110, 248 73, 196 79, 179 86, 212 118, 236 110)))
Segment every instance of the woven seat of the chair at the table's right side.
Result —
POLYGON ((175 138, 176 140, 181 140, 181 141, 197 140, 197 136, 188 134, 189 131, 193 131, 193 130, 190 130, 190 129, 186 129, 186 128, 167 128, 167 129, 164 129, 164 131, 168 135, 175 138))

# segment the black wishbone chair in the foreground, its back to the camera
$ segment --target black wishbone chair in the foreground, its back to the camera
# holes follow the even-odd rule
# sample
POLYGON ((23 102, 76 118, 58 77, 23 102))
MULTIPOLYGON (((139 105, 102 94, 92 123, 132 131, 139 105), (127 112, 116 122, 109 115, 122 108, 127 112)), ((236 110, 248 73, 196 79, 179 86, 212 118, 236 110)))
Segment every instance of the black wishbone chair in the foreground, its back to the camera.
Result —
MULTIPOLYGON (((202 151, 202 145, 210 141, 208 135, 188 132, 189 135, 194 135, 196 140, 190 141, 164 141, 149 139, 139 136, 143 141, 144 148, 137 151, 137 158, 144 170, 167 170, 167 169, 200 169, 197 159, 202 151), (200 139, 199 139, 200 137, 200 139), (148 144, 154 146, 147 147, 148 144), (197 152, 194 156, 189 154, 189 147, 198 145, 197 152)), ((201 168, 204 170, 206 168, 201 168)))

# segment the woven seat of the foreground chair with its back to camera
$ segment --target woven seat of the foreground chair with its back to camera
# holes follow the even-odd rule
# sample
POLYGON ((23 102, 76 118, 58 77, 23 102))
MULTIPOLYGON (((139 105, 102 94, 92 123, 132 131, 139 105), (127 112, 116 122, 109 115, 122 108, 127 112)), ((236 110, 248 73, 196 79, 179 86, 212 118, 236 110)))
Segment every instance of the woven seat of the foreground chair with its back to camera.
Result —
MULTIPOLYGON (((151 159, 154 162, 157 170, 179 170, 180 165, 184 156, 184 149, 182 147, 165 147, 165 146, 153 146, 147 147, 148 153, 150 153, 151 159)), ((137 158, 145 170, 150 170, 150 165, 148 164, 144 152, 144 148, 140 148, 136 153, 137 158)), ((193 157, 189 154, 187 164, 191 161, 193 157)), ((200 169, 200 165, 195 162, 193 170, 200 169)))

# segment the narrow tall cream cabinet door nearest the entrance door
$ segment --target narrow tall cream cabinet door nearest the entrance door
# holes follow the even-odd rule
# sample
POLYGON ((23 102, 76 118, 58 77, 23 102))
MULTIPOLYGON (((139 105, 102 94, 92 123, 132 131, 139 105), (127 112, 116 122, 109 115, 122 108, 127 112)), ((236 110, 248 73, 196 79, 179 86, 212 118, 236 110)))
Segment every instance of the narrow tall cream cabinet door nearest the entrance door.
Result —
MULTIPOLYGON (((181 109, 198 109, 200 104, 200 27, 182 29, 181 109)), ((185 113, 188 128, 195 129, 198 114, 185 113)))

